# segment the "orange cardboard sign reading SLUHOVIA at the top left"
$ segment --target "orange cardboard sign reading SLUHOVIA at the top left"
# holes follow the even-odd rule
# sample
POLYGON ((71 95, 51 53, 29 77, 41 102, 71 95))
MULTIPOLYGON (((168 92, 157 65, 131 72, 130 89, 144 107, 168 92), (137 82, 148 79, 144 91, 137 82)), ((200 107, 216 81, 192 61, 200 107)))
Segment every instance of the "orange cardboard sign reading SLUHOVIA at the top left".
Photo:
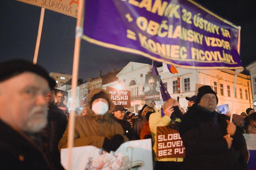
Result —
POLYGON ((77 18, 79 0, 17 0, 77 18))

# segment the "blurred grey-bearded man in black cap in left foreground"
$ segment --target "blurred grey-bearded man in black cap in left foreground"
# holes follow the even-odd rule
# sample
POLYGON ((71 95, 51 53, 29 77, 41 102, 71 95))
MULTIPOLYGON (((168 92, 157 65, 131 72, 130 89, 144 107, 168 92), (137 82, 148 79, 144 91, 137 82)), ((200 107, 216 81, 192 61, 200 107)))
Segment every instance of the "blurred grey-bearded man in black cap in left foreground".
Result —
POLYGON ((55 169, 37 133, 47 124, 46 94, 55 84, 28 61, 0 63, 0 169, 55 169))

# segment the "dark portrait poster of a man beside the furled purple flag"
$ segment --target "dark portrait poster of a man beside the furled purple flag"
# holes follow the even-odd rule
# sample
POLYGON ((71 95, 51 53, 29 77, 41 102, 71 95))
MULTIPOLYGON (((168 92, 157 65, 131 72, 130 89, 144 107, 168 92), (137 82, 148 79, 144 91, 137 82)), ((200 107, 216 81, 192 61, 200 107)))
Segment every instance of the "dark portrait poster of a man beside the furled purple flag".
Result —
POLYGON ((145 99, 146 100, 160 100, 160 75, 150 75, 146 74, 145 78, 145 99))

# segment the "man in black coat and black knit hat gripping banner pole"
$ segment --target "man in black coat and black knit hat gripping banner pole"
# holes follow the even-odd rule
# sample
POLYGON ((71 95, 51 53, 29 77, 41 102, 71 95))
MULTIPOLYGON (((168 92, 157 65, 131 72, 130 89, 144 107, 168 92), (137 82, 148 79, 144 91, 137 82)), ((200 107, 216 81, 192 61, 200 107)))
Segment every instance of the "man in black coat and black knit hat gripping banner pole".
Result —
POLYGON ((198 89, 196 103, 181 120, 179 132, 186 148, 185 169, 238 170, 243 131, 215 111, 218 97, 210 86, 198 89), (230 137, 229 137, 229 135, 230 137))

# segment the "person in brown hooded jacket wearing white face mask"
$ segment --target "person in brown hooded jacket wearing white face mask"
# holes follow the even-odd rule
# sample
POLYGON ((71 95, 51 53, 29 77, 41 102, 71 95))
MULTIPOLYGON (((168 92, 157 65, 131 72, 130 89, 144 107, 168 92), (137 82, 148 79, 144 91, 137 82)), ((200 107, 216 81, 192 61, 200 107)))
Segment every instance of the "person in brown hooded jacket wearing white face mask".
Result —
MULTIPOLYGON (((85 107, 87 114, 76 118, 74 147, 92 145, 110 152, 128 141, 121 125, 110 118, 114 104, 106 90, 93 89, 85 107)), ((68 126, 60 140, 59 149, 67 148, 67 142, 68 126)))

